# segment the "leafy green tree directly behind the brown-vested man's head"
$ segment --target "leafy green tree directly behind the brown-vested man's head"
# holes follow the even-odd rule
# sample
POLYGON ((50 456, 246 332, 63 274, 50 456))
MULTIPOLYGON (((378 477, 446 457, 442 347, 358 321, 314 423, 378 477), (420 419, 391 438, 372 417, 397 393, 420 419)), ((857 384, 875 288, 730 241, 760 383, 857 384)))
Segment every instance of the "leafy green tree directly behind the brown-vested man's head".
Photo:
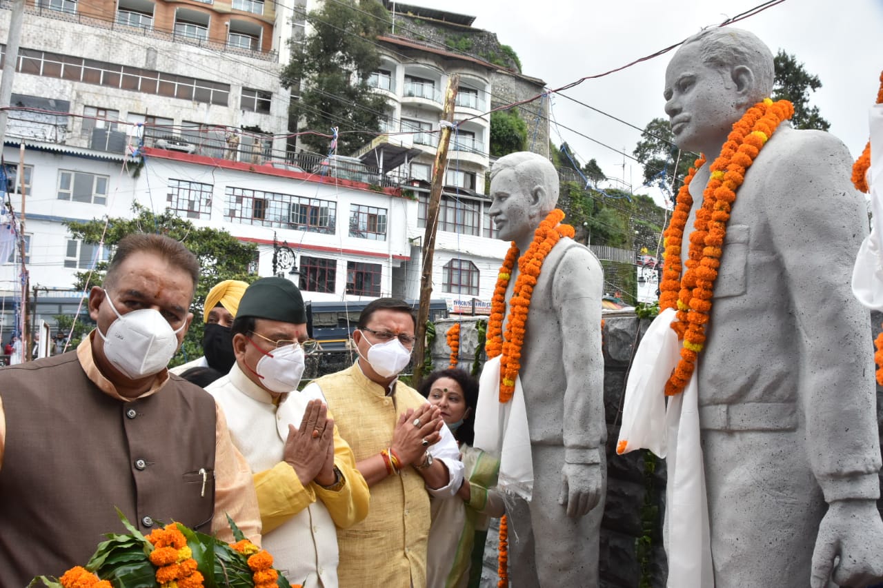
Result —
MULTIPOLYGON (((162 233, 184 243, 200 261, 200 282, 197 284, 196 294, 190 306, 194 315, 193 322, 181 350, 170 364, 177 366, 202 355, 202 305, 208 290, 223 280, 253 282, 257 279, 256 275, 248 272, 248 265, 254 260, 257 247, 242 243, 225 230, 196 227, 192 222, 175 215, 169 209, 155 215, 146 207, 135 204, 132 213, 132 217, 107 219, 105 247, 112 248, 120 239, 131 233, 162 233)), ((85 243, 98 244, 104 233, 105 220, 68 221, 64 222, 64 225, 73 238, 82 239, 85 243)), ((78 272, 74 287, 86 290, 101 285, 107 266, 108 263, 102 261, 96 264, 94 272, 78 272)), ((67 326, 67 330, 70 330, 70 325, 67 326)), ((79 333, 75 331, 75 335, 79 333)))

